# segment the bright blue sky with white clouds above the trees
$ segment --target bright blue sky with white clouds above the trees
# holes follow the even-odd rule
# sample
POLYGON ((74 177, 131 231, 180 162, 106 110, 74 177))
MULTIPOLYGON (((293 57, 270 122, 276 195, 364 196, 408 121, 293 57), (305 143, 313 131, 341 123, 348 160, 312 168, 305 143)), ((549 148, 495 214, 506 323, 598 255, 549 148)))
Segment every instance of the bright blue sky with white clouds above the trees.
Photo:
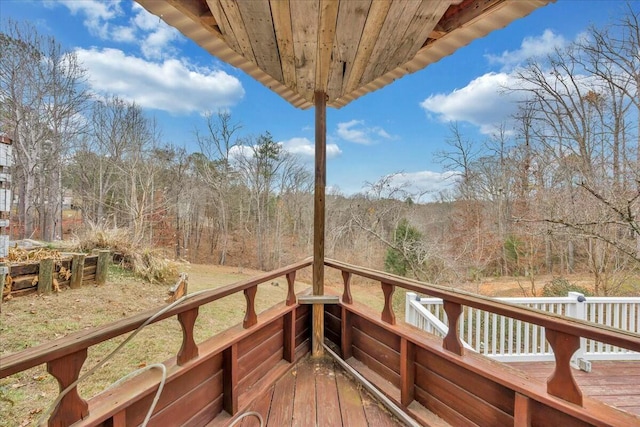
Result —
MULTIPOLYGON (((433 154, 446 149, 449 121, 481 144, 514 111, 501 87, 519 64, 575 40, 590 24, 615 20, 626 7, 619 0, 557 0, 422 71, 329 109, 329 191, 353 194, 400 172, 396 179, 415 190, 443 188, 450 171, 433 154)), ((202 114, 228 109, 243 135, 269 131, 312 163, 313 109, 295 109, 130 0, 0 0, 0 19, 8 18, 31 21, 75 50, 91 90, 135 101, 156 117, 164 142, 197 150, 193 133, 203 126, 202 114)))

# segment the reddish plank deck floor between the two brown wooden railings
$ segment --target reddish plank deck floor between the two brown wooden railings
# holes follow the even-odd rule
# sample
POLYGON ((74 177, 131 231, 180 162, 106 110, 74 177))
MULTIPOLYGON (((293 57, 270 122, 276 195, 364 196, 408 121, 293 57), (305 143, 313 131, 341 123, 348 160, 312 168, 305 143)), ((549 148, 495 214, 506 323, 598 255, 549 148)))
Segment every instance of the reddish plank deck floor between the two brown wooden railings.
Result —
MULTIPOLYGON (((258 412, 267 427, 404 425, 329 358, 301 360, 245 411, 233 418, 222 413, 208 426, 229 425, 249 411, 258 412)), ((260 424, 247 416, 236 425, 260 424)))

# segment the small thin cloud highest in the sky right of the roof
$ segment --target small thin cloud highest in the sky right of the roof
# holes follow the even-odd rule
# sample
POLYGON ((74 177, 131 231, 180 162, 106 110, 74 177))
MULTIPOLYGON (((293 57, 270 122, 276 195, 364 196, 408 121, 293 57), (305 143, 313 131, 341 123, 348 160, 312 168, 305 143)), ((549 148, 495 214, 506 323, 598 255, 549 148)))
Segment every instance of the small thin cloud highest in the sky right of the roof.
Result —
POLYGON ((504 71, 513 69, 529 59, 541 58, 566 45, 567 40, 562 35, 547 29, 540 36, 525 37, 520 44, 520 49, 505 50, 500 55, 488 54, 485 57, 490 64, 502 65, 504 71))

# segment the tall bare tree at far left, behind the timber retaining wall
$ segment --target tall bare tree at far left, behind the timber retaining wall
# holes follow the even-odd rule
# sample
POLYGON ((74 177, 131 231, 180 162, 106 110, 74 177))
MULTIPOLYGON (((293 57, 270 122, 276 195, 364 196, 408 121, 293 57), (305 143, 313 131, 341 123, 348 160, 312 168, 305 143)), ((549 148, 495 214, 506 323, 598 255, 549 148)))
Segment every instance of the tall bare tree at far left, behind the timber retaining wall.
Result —
POLYGON ((83 131, 85 71, 73 52, 30 24, 7 22, 0 33, 0 123, 14 140, 23 236, 38 227, 62 235, 62 168, 83 131))

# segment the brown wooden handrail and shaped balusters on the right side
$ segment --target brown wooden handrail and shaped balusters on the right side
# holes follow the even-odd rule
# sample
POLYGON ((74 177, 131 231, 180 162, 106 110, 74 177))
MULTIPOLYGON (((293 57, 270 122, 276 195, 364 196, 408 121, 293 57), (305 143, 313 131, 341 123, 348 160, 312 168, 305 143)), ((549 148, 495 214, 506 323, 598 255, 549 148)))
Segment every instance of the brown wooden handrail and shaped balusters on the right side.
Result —
MULTIPOLYGON (((568 319, 554 313, 544 313, 451 288, 426 285, 340 261, 326 259, 325 265, 342 272, 344 278, 343 304, 348 305, 353 300, 350 290, 353 275, 380 282, 385 300, 380 319, 384 323, 395 324, 392 295, 396 287, 441 298, 448 328, 447 334, 442 340, 442 347, 456 355, 464 353, 459 321, 465 307, 544 327, 546 330, 545 338, 553 350, 555 359, 555 372, 547 381, 547 393, 576 405, 582 406, 583 398, 582 392, 573 378, 570 361, 574 352, 580 348, 581 339, 586 338, 632 351, 640 351, 640 335, 636 333, 598 326, 582 320, 568 319)), ((408 389, 410 387, 403 383, 401 388, 408 389)))

